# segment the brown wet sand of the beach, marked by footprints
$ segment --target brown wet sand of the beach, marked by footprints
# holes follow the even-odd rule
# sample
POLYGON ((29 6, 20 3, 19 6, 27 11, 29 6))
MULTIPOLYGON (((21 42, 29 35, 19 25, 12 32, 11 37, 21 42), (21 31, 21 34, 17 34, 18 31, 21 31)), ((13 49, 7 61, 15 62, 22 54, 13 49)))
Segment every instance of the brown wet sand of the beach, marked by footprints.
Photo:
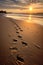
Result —
POLYGON ((43 26, 0 16, 0 65, 43 65, 43 26))

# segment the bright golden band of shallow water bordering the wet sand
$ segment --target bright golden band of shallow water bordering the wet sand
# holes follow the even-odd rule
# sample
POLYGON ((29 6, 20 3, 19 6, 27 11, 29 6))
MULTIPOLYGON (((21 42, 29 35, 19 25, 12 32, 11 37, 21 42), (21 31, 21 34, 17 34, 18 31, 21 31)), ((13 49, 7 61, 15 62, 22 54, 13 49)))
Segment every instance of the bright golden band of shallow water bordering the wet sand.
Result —
POLYGON ((26 22, 43 25, 43 16, 40 15, 6 14, 5 16, 16 20, 23 20, 26 22))

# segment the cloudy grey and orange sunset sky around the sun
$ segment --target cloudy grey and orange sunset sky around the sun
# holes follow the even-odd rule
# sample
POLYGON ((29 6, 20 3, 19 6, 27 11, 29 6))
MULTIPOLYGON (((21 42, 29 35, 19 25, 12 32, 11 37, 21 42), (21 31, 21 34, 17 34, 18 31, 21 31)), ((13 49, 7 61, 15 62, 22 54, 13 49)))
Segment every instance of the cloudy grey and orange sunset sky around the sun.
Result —
POLYGON ((15 13, 43 12, 43 0, 0 0, 0 10, 2 9, 15 13), (29 7, 33 10, 29 11, 29 7))

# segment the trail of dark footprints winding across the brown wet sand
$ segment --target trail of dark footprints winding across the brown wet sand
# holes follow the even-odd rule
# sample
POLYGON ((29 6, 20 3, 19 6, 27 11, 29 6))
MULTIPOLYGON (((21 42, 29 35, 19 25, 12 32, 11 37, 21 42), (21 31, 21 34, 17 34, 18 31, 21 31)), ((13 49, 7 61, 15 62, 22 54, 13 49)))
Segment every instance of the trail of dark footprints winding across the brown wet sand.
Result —
MULTIPOLYGON (((16 29, 17 37, 21 40, 22 45, 28 46, 28 43, 23 41, 22 36, 20 35, 20 32, 19 32, 19 31, 23 32, 23 30, 15 22, 13 22, 13 23, 14 23, 14 25, 16 25, 15 29, 16 29)), ((17 43, 17 41, 18 41, 17 39, 13 39, 13 44, 17 43)), ((39 46, 35 46, 35 47, 40 49, 39 46)), ((9 49, 16 51, 16 52, 18 51, 18 48, 14 47, 14 46, 11 46, 9 49)), ((12 52, 12 54, 13 54, 13 52, 12 52)), ((11 56, 13 57, 13 55, 11 55, 11 56)), ((24 65, 24 58, 20 54, 16 54, 15 62, 16 62, 16 65, 24 65)), ((15 65, 12 61, 11 61, 11 63, 12 63, 12 65, 15 65)))

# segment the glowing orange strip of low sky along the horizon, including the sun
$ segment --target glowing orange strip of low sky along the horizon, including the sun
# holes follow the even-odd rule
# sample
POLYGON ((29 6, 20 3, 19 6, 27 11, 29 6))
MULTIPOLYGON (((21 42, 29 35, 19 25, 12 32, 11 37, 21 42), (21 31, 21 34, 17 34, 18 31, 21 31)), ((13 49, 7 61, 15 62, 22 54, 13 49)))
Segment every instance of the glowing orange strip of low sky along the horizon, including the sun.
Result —
POLYGON ((0 10, 6 10, 7 12, 14 12, 14 13, 43 13, 43 9, 34 9, 32 7, 28 9, 0 9, 0 10))

